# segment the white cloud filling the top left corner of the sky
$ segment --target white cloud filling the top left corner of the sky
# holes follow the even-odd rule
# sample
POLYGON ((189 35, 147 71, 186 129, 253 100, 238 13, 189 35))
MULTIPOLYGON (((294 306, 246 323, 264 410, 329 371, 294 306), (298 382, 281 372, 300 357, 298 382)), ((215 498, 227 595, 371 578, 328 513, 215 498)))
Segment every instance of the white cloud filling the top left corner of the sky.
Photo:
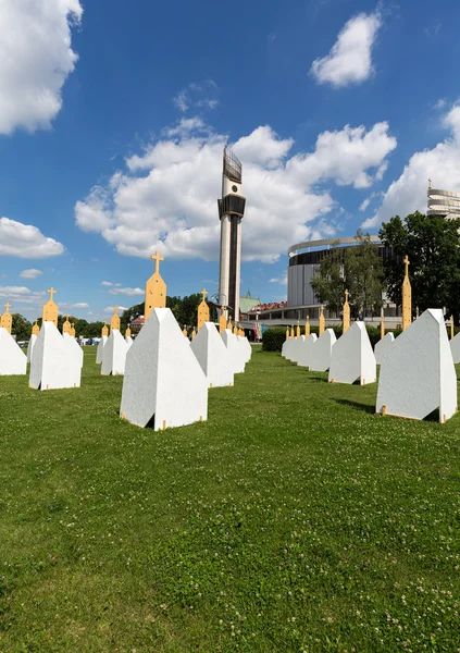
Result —
POLYGON ((3 0, 0 10, 0 134, 49 128, 77 61, 71 27, 79 0, 3 0))

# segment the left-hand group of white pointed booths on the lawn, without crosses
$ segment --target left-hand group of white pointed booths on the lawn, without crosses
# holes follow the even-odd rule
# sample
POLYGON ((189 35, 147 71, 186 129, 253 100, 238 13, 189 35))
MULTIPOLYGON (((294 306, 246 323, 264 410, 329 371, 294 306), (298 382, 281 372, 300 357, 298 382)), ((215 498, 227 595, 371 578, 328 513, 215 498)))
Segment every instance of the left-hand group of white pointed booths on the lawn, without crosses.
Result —
MULTIPOLYGON (((235 374, 251 358, 245 336, 226 329, 219 333, 206 322, 190 342, 169 308, 156 308, 133 341, 112 329, 97 349, 101 373, 123 374, 121 417, 139 427, 161 430, 208 418, 208 392, 233 386, 235 374)), ((43 322, 33 335, 27 356, 5 329, 0 329, 0 374, 26 374, 29 387, 79 387, 83 349, 61 334, 53 322, 43 322)))

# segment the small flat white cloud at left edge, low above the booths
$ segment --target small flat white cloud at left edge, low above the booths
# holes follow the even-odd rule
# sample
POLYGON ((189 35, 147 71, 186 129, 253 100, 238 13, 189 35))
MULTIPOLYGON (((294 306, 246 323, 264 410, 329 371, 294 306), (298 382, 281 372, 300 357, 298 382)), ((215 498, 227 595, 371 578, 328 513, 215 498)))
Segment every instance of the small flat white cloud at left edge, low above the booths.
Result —
POLYGON ((64 254, 65 248, 39 229, 9 218, 0 218, 0 255, 18 258, 48 258, 64 254))

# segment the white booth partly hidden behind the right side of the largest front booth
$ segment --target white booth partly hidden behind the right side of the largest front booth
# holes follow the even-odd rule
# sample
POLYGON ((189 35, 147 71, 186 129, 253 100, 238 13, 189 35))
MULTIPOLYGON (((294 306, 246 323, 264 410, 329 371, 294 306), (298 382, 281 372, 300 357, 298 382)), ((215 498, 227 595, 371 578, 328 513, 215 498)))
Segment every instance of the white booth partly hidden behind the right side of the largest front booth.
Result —
POLYGON ((204 372, 210 387, 233 385, 234 374, 229 354, 212 322, 204 322, 190 348, 204 372))

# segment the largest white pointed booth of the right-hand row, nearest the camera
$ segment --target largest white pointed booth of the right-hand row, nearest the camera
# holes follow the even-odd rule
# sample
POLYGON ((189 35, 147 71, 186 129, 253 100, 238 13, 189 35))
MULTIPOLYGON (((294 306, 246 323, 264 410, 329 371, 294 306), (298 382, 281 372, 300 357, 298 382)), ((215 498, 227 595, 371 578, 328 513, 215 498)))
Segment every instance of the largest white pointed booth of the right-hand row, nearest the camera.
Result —
POLYGON ((376 412, 423 419, 457 411, 457 375, 443 311, 428 308, 393 343, 378 379, 376 412))

